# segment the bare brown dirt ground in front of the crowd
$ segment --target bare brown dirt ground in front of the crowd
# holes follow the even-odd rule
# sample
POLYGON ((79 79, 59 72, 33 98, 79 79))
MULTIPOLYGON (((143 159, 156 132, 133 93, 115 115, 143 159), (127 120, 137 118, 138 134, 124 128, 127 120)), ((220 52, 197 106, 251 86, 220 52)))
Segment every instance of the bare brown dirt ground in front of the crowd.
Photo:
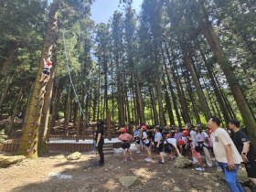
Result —
MULTIPOLYGON (((159 165, 159 156, 154 153, 155 163, 148 163, 143 152, 133 154, 133 161, 128 162, 123 162, 122 154, 105 155, 105 165, 93 167, 91 161, 98 160, 99 155, 84 153, 73 161, 67 160, 67 155, 48 154, 0 168, 0 191, 228 191, 222 173, 215 166, 200 173, 196 166, 175 168, 175 160, 159 165), (125 176, 134 176, 139 182, 125 187, 120 180, 125 176)), ((244 170, 240 174, 246 177, 244 170)))

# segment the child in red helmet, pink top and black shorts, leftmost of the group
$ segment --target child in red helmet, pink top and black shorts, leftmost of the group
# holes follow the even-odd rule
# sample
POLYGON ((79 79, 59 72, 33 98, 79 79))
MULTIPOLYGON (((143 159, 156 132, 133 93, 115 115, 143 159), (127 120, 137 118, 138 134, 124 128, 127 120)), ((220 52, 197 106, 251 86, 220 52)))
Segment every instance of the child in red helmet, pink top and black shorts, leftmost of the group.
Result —
POLYGON ((121 129, 121 134, 119 135, 118 139, 122 142, 121 147, 123 148, 123 161, 127 162, 127 151, 129 152, 130 155, 130 160, 133 160, 133 155, 132 151, 130 149, 130 142, 133 139, 133 136, 129 133, 126 133, 127 129, 123 127, 121 129))

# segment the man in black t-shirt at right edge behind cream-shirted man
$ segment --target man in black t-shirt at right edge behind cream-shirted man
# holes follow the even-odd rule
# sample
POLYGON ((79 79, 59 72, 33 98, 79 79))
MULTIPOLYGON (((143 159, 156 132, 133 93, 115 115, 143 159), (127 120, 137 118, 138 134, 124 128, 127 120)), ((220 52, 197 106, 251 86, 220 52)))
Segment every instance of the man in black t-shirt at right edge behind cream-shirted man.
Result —
POLYGON ((250 144, 251 142, 246 133, 240 130, 240 122, 238 120, 230 120, 229 129, 232 131, 231 138, 240 152, 248 178, 256 187, 256 150, 250 144))

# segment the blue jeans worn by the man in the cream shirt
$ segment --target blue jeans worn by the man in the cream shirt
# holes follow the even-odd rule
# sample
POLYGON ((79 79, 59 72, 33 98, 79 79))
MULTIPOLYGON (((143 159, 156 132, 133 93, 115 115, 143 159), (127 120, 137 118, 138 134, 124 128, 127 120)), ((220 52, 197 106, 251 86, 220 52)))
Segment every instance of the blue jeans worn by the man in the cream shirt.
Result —
POLYGON ((238 181, 238 171, 239 171, 240 165, 236 164, 236 168, 231 171, 227 169, 227 166, 228 166, 227 163, 218 162, 218 165, 222 169, 222 172, 225 176, 225 180, 229 186, 229 191, 244 192, 245 190, 243 189, 243 187, 240 185, 240 182, 238 181))

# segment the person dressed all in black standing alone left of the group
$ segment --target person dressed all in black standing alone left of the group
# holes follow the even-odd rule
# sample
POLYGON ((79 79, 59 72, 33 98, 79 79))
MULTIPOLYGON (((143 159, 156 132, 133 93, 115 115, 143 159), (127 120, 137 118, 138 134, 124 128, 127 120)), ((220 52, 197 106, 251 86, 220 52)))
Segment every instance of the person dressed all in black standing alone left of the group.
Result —
POLYGON ((103 144, 104 144, 104 122, 99 121, 97 124, 97 131, 95 136, 95 143, 96 148, 98 148, 98 153, 100 155, 100 161, 99 163, 96 163, 95 165, 104 165, 104 154, 103 154, 103 144))

